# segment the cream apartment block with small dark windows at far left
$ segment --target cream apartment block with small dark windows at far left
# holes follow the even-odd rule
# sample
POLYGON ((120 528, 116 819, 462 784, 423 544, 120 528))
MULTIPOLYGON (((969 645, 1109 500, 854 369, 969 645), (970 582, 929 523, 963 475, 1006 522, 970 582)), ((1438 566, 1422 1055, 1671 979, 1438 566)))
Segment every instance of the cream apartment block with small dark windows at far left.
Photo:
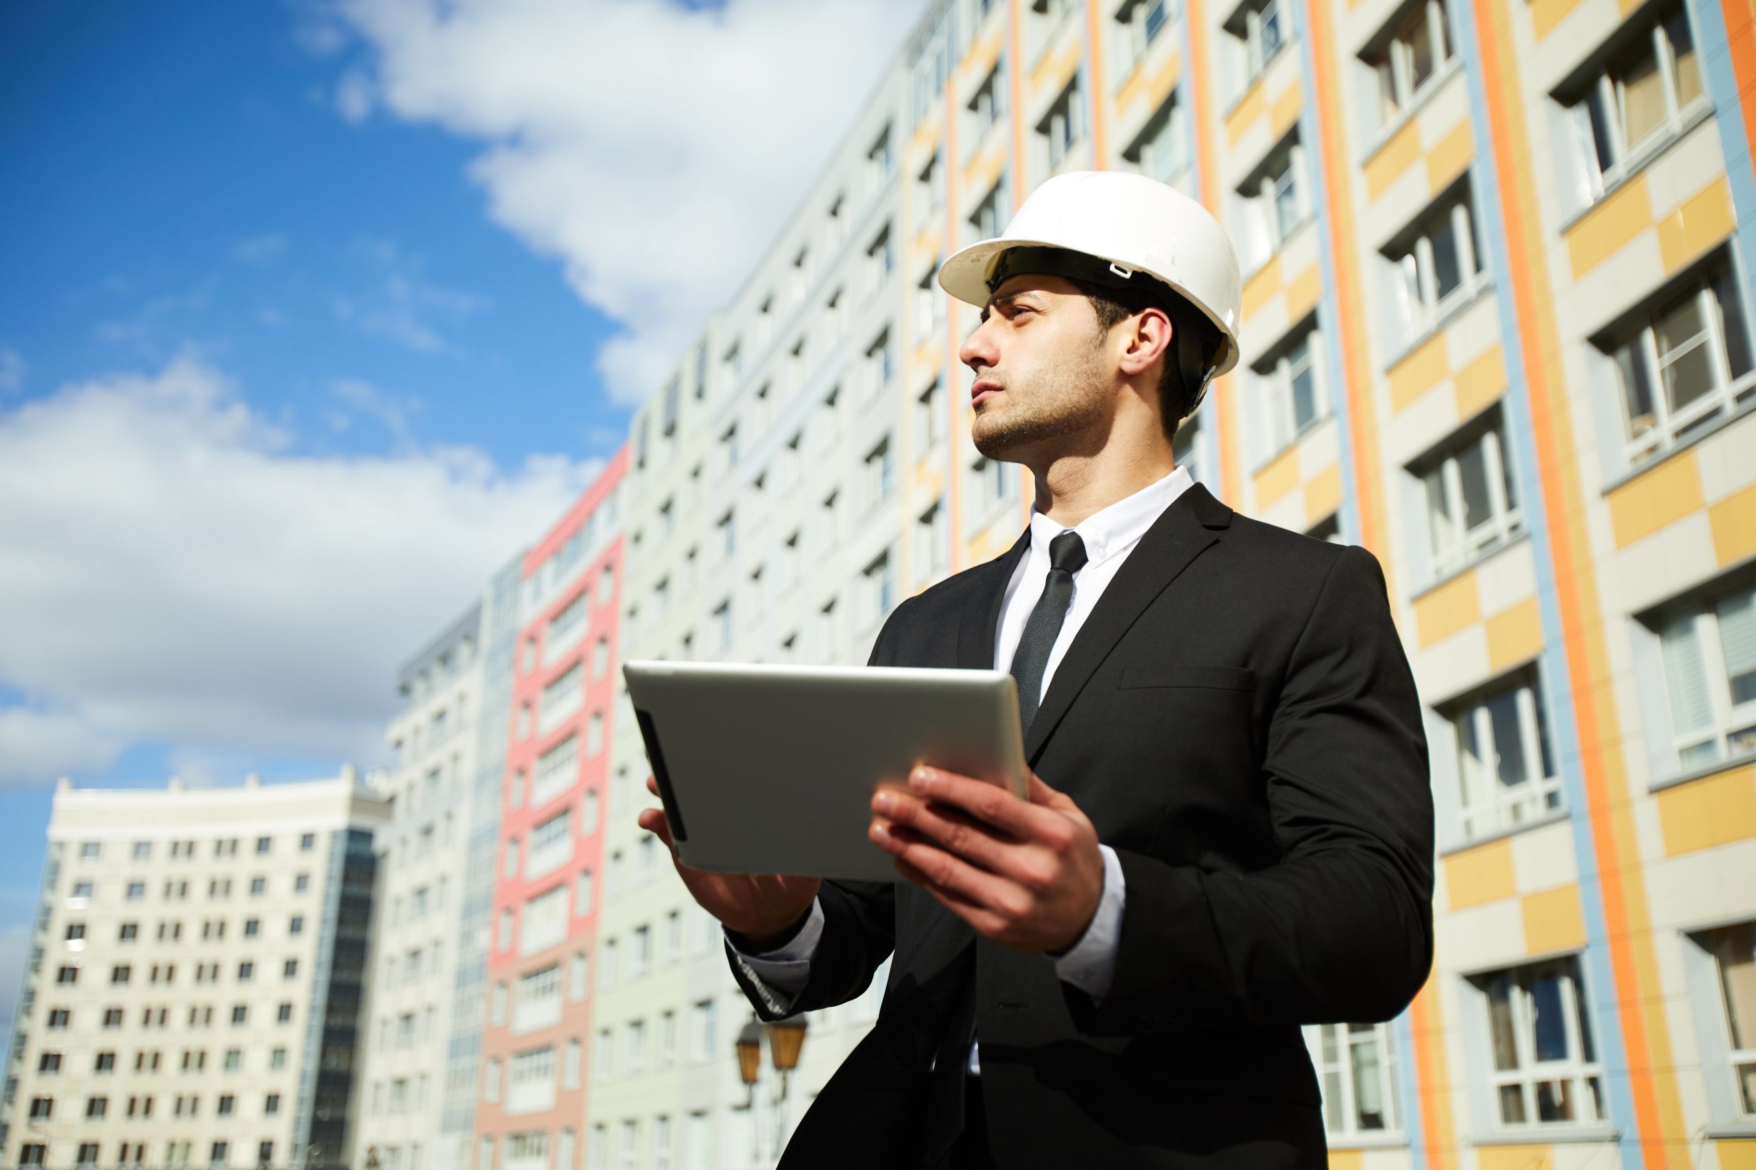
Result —
POLYGON ((56 788, 9 1166, 346 1166, 388 802, 341 777, 56 788))

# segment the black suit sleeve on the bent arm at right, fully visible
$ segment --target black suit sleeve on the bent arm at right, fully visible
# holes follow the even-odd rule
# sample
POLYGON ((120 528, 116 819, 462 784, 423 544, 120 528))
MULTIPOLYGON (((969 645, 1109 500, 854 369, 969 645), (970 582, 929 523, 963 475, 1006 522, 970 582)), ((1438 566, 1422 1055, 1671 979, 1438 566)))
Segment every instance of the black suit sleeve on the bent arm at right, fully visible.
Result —
POLYGON ((1280 861, 1252 872, 1119 849, 1127 881, 1115 979, 1076 989, 1082 1030, 1368 1023, 1394 1017, 1433 961, 1433 796, 1414 677, 1384 574, 1333 563, 1268 730, 1280 861))

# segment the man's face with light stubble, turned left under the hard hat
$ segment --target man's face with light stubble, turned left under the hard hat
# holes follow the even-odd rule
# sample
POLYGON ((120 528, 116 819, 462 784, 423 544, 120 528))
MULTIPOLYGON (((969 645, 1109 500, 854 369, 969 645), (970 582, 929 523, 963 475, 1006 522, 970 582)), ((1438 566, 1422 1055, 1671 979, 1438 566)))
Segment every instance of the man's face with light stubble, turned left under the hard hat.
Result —
POLYGON ((1071 282, 1008 277, 957 354, 976 375, 969 391, 976 451, 1027 461, 1101 423, 1115 382, 1106 340, 1090 300, 1071 282))

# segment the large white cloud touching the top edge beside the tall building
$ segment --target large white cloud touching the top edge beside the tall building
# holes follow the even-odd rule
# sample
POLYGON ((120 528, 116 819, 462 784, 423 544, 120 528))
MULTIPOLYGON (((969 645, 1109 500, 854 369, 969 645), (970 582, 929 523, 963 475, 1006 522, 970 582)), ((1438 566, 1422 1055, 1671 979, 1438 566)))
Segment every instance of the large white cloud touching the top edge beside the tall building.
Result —
MULTIPOLYGON (((372 51, 351 98, 479 140, 490 214, 623 325, 639 402, 743 282, 922 0, 335 0, 372 51)), ((355 67, 358 68, 358 67, 355 67)), ((363 116, 358 103, 346 103, 363 116)))

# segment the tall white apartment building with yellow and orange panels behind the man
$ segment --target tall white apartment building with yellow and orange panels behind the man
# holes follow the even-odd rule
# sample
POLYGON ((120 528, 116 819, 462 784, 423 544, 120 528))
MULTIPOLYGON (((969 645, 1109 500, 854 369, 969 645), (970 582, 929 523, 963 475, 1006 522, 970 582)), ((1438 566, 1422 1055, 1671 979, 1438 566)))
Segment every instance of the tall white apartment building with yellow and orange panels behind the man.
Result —
MULTIPOLYGON (((934 268, 1059 170, 1173 182, 1245 270, 1178 458, 1377 553, 1428 703, 1438 961, 1308 1030, 1336 1161, 1747 1165, 1751 44, 1747 0, 932 5, 634 417, 629 654, 859 661, 1003 551, 934 268)), ((762 1165, 746 1009, 618 742, 587 1166, 762 1165)), ((869 1010, 811 1019, 792 1116, 869 1010)))

